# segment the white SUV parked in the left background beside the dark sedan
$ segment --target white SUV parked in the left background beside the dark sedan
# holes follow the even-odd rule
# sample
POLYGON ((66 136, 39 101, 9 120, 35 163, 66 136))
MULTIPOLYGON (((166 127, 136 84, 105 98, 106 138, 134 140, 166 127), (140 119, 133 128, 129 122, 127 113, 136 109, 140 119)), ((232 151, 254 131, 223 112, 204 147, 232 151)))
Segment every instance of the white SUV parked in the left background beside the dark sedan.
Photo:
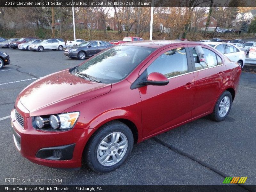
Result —
POLYGON ((66 47, 66 45, 63 39, 46 39, 40 43, 29 45, 30 50, 39 52, 49 49, 62 51, 64 47, 66 47))

